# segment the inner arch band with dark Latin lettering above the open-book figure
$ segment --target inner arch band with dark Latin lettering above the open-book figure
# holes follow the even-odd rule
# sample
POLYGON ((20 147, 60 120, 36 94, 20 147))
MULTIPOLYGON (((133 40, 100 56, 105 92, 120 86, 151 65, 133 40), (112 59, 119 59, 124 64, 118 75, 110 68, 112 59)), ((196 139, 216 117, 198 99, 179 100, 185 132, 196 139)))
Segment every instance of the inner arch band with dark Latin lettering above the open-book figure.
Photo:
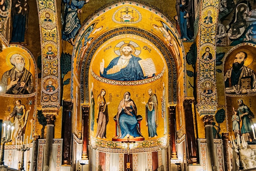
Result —
MULTIPOLYGON (((126 28, 128 26, 125 26, 126 28)), ((131 27, 134 28, 134 27, 131 27)), ((120 27, 120 29, 122 29, 122 27, 120 27)), ((139 29, 139 28, 138 28, 139 29)), ((120 36, 117 35, 117 33, 119 34, 119 32, 113 32, 112 30, 109 30, 106 34, 108 36, 111 35, 115 35, 115 36, 120 36), (109 34, 108 34, 109 33, 109 34)), ((142 34, 143 32, 147 32, 143 29, 139 29, 138 31, 135 31, 136 33, 142 34)), ((138 35, 139 35, 138 34, 138 35)), ((158 39, 157 37, 155 37, 155 39, 152 39, 151 37, 149 37, 146 34, 143 34, 143 38, 151 41, 157 48, 158 50, 162 53, 162 55, 165 58, 165 63, 167 65, 167 71, 168 71, 168 99, 169 99, 169 103, 177 103, 177 88, 176 88, 176 83, 177 83, 177 74, 176 74, 176 66, 174 63, 174 59, 169 51, 169 49, 165 46, 165 44, 158 39), (171 96, 173 95, 173 96, 171 96)), ((81 85, 81 103, 86 102, 89 103, 89 90, 88 90, 88 81, 89 81, 89 74, 90 74, 90 64, 92 62, 92 58, 94 56, 94 53, 97 51, 97 49, 100 47, 101 44, 103 44, 105 39, 103 36, 99 36, 96 40, 94 40, 93 42, 91 42, 90 46, 88 47, 83 61, 82 61, 82 66, 81 66, 81 74, 80 74, 80 85, 81 85)))

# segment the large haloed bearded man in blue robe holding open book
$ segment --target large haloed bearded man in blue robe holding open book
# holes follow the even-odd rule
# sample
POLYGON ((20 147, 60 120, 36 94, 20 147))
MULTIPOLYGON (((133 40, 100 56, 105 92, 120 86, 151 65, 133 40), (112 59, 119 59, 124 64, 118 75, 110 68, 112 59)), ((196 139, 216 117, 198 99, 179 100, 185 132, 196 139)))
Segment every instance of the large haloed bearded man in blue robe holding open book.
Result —
POLYGON ((100 62, 100 76, 117 81, 138 81, 155 76, 156 67, 151 58, 142 60, 141 48, 133 41, 116 45, 115 57, 105 68, 104 58, 100 62))

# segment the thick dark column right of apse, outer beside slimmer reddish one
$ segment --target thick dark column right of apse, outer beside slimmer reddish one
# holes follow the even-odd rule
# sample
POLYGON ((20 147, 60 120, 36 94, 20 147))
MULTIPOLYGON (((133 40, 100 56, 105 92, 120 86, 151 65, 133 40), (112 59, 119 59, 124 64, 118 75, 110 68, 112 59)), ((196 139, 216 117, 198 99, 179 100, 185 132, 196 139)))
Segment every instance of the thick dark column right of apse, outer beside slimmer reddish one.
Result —
POLYGON ((185 113, 185 128, 186 128, 186 145, 188 163, 193 164, 197 162, 197 143, 195 137, 194 119, 192 111, 192 99, 185 99, 183 101, 185 113))

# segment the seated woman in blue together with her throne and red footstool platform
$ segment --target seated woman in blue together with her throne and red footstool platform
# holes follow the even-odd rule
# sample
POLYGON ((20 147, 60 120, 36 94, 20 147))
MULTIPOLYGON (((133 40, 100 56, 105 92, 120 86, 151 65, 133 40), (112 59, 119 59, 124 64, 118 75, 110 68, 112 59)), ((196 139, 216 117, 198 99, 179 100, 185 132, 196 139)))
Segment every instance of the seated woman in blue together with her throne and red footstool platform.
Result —
POLYGON ((140 122, 142 116, 137 116, 137 107, 130 98, 130 92, 125 92, 124 98, 120 101, 117 115, 114 116, 116 122, 116 136, 112 141, 143 141, 145 138, 140 133, 140 122))

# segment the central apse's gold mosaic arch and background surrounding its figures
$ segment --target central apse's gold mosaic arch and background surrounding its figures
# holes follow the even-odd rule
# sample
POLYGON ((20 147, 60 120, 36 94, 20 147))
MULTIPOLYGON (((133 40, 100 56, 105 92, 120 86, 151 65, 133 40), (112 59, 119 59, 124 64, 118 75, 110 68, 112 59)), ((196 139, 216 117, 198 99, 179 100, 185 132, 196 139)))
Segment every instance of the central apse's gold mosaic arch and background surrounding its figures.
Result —
MULTIPOLYGON (((129 11, 129 10, 128 10, 129 11)), ((113 148, 111 146, 100 146, 100 144, 115 143, 116 149, 124 150, 125 147, 114 137, 116 136, 116 126, 114 116, 123 98, 124 92, 130 92, 136 106, 138 115, 142 116, 140 129, 143 139, 136 140, 139 144, 135 148, 156 148, 167 146, 167 132, 165 131, 162 110, 167 110, 168 104, 177 103, 176 85, 177 80, 180 87, 180 96, 186 96, 184 48, 179 34, 170 21, 161 14, 155 7, 147 7, 133 1, 123 1, 116 4, 107 4, 104 9, 99 9, 95 15, 91 16, 81 29, 72 54, 72 98, 76 98, 80 93, 80 102, 90 105, 90 130, 91 142, 93 146, 99 148, 113 148), (134 15, 122 15, 122 11, 132 9, 134 15), (129 16, 130 15, 130 16, 129 16), (131 19, 131 16, 134 17, 131 19), (150 19, 148 19, 150 16, 150 19), (122 20, 121 20, 122 17, 122 20), (126 18, 125 18, 126 17, 126 18), (130 17, 130 18, 129 18, 130 17), (135 54, 142 60, 151 58, 156 67, 153 77, 139 80, 115 80, 104 78, 100 75, 100 62, 104 58, 106 68, 113 58, 118 57, 120 42, 137 44, 135 49, 139 54, 135 54), (134 43, 131 43, 134 42, 134 43), (182 65, 184 64, 184 65, 182 65), (93 83, 93 88, 92 88, 93 83), (163 96, 163 83, 165 85, 165 95, 163 96), (74 87, 80 87, 75 90, 74 87), (150 138, 148 127, 146 127, 146 107, 142 102, 148 101, 148 87, 152 87, 153 93, 158 100, 158 127, 157 137, 150 138), (126 90, 127 88, 127 90, 126 90), (109 115, 106 139, 97 138, 97 96, 101 89, 105 89, 106 102, 109 104, 109 115), (92 103, 94 97, 94 107, 92 103), (110 96, 111 94, 111 96, 110 96), (136 97, 137 96, 137 97, 136 97), (162 109, 162 98, 165 98, 165 107, 162 109), (93 114, 94 111, 94 114, 93 114), (94 115, 94 116, 93 116, 94 115), (93 122, 92 122, 93 121, 93 122), (114 138, 114 139, 113 139, 114 138), (122 146, 121 146, 122 145, 122 146)), ((77 104, 79 105, 79 104, 77 104)), ((164 117, 164 115, 163 115, 164 117)), ((166 119, 166 117, 165 117, 166 119)), ((168 126, 167 126, 167 130, 168 126)), ((104 138, 105 138, 104 137, 104 138)))

